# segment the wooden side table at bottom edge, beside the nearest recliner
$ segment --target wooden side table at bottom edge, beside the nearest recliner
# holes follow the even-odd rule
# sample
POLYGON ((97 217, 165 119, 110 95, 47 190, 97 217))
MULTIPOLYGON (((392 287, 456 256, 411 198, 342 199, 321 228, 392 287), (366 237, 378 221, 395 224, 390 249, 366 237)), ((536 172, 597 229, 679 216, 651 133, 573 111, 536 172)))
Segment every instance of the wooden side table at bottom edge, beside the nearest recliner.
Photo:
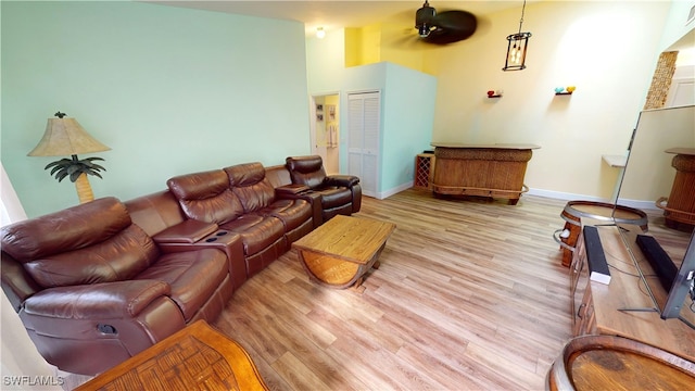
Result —
POLYGON ((76 390, 267 390, 237 342, 198 320, 76 390))

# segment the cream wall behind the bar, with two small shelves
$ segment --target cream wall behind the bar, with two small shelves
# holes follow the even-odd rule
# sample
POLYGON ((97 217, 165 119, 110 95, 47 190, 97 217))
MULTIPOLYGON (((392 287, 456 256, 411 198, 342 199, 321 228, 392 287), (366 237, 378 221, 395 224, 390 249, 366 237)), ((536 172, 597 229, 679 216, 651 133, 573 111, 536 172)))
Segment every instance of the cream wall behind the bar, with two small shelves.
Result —
POLYGON ((526 185, 552 197, 608 200, 659 56, 668 2, 529 3, 527 68, 502 72, 519 9, 490 15, 471 39, 438 53, 433 139, 534 143, 526 185), (571 96, 556 87, 576 86, 571 96), (503 90, 488 99, 485 91, 503 90))

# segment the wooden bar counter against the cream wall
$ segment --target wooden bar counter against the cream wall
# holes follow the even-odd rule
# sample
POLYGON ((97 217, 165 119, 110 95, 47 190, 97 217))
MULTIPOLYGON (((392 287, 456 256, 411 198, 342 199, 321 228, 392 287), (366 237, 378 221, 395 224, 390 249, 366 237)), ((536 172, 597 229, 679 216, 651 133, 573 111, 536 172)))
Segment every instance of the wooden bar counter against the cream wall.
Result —
POLYGON ((432 142, 437 165, 432 176, 435 195, 502 198, 516 205, 527 163, 534 144, 464 144, 432 142))

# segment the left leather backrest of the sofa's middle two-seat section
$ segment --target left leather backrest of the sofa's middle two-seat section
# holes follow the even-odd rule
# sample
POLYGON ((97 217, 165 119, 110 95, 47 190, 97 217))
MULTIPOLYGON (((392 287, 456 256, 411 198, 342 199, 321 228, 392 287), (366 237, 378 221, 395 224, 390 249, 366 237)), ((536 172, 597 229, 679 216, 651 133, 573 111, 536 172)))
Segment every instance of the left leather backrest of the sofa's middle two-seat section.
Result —
POLYGON ((189 218, 222 225, 244 213, 224 169, 180 175, 166 185, 189 218))

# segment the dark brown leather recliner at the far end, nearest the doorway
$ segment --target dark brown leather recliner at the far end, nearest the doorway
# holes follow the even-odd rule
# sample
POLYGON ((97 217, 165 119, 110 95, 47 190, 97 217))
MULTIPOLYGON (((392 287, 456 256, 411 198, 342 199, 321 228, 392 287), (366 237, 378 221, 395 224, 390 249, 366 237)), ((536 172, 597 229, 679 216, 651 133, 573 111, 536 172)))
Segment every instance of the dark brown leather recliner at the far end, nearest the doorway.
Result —
POLYGON ((342 214, 350 216, 359 212, 362 187, 359 178, 353 175, 326 175, 319 155, 289 156, 286 166, 292 184, 304 185, 321 195, 324 223, 342 214))

